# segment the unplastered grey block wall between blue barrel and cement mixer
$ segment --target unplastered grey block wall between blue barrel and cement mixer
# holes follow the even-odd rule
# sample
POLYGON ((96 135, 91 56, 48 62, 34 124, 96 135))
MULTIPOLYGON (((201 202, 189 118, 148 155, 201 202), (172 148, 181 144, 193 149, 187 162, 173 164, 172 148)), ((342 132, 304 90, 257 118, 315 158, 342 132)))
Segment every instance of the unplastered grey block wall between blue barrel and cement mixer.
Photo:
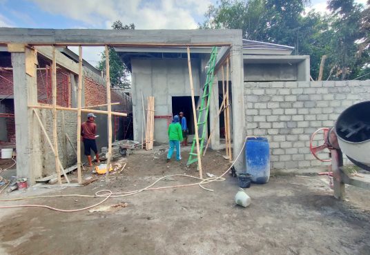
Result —
POLYGON ((246 134, 269 139, 272 168, 318 166, 311 134, 333 127, 350 105, 370 100, 370 80, 244 83, 244 96, 246 134))

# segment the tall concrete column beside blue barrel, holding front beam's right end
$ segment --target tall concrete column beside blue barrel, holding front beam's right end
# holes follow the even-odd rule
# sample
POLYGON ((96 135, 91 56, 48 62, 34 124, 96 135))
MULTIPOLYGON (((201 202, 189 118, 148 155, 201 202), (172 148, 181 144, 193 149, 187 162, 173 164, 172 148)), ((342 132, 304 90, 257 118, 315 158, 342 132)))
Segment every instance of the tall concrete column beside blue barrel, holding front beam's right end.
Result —
MULTIPOLYGON (((242 41, 240 39, 240 41, 242 41)), ((243 52, 240 43, 233 43, 231 49, 231 89, 233 93, 233 160, 242 150, 245 139, 244 128, 244 66, 243 52)), ((237 172, 245 170, 244 153, 240 154, 235 163, 237 172)))

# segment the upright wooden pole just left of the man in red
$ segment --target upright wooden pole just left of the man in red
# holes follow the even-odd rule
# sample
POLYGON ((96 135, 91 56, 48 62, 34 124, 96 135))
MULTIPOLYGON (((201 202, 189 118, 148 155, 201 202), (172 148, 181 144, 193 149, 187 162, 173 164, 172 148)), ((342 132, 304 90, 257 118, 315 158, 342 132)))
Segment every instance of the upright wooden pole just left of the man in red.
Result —
POLYGON ((82 183, 81 176, 81 100, 82 100, 82 47, 79 45, 79 84, 77 89, 77 181, 82 183))

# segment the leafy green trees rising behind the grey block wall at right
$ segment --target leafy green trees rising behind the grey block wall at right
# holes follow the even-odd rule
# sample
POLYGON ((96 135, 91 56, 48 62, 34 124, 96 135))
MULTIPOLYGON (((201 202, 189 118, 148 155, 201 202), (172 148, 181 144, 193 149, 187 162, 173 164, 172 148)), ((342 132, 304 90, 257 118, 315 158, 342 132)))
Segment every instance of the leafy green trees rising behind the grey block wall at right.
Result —
POLYGON ((221 0, 210 6, 199 28, 242 29, 244 39, 294 46, 308 54, 317 79, 327 55, 324 79, 369 79, 370 0, 329 0, 329 14, 311 10, 309 0, 221 0))

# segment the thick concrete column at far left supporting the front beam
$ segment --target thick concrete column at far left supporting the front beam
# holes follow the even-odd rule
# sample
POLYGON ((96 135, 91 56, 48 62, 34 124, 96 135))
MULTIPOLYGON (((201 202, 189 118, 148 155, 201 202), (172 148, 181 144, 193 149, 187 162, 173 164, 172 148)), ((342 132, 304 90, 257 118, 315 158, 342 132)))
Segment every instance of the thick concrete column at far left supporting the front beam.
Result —
POLYGON ((26 55, 32 54, 35 52, 28 48, 12 53, 17 176, 28 178, 31 184, 42 175, 40 127, 28 108, 28 104, 37 103, 36 65, 32 61, 28 61, 28 72, 33 68, 33 76, 26 74, 26 55))

